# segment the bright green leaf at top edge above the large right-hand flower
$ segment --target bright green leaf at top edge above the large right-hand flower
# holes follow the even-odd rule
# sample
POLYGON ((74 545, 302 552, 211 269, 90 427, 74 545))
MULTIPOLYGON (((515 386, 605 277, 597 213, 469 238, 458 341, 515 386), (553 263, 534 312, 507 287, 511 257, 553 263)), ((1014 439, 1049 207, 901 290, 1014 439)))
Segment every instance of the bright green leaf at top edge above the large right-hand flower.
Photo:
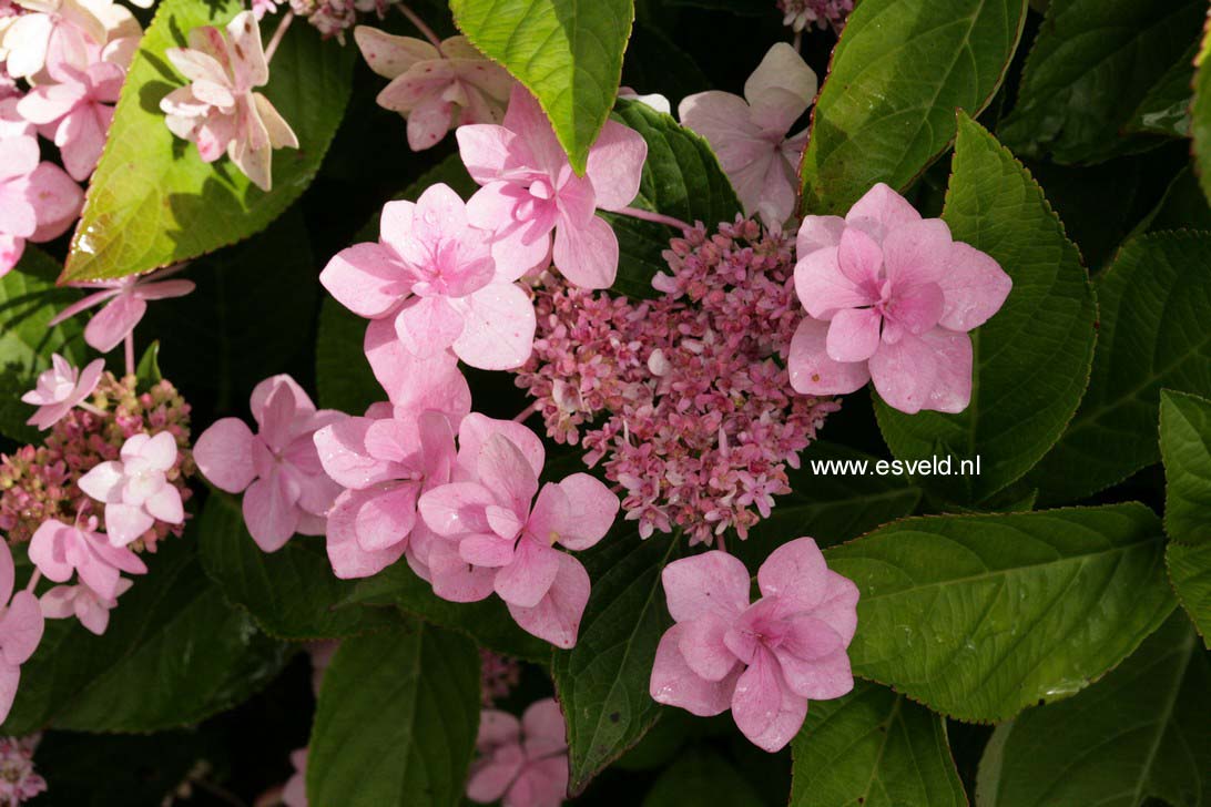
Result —
POLYGON ((803 211, 840 213, 876 183, 903 190, 1000 87, 1026 0, 862 0, 811 116, 803 211))

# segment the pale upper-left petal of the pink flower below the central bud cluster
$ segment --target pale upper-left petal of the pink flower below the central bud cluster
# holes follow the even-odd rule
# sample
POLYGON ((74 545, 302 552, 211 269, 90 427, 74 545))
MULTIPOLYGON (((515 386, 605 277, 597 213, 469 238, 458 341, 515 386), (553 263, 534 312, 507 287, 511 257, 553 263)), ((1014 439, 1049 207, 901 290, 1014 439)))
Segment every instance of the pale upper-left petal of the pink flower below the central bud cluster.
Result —
POLYGON ((735 555, 704 552, 675 560, 660 573, 668 612, 677 622, 717 613, 734 619, 748 607, 748 570, 735 555))

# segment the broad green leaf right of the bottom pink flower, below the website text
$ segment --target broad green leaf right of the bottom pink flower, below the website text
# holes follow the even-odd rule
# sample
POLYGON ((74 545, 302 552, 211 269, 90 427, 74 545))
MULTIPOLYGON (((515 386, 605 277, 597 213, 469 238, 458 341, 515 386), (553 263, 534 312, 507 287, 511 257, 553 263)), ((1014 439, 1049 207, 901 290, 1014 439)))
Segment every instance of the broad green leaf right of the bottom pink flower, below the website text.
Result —
POLYGON ((861 589, 854 673, 1000 721, 1089 685, 1173 609, 1142 505, 916 518, 825 551, 861 589))

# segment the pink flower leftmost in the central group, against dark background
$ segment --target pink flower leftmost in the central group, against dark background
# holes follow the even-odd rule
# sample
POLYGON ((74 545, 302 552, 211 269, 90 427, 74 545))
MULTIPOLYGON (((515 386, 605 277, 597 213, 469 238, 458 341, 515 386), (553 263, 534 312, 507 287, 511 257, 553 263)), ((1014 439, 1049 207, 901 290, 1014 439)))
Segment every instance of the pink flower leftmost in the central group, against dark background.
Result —
POLYGON ((323 472, 312 437, 345 417, 316 410, 303 387, 275 375, 252 391, 256 434, 237 417, 202 432, 194 461, 211 484, 243 494, 243 520, 264 552, 281 549, 292 535, 323 535, 326 515, 340 486, 323 472))

